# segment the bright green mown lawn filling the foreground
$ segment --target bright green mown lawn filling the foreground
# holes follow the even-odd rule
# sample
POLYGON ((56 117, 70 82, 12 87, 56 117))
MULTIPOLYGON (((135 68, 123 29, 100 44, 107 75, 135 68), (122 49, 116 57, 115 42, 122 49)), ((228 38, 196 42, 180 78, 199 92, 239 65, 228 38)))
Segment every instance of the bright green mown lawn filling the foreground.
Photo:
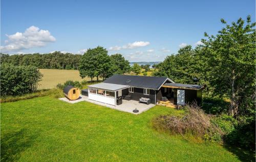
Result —
POLYGON ((152 118, 166 113, 181 112, 155 106, 133 115, 48 96, 2 103, 1 160, 240 161, 218 144, 155 131, 152 118))

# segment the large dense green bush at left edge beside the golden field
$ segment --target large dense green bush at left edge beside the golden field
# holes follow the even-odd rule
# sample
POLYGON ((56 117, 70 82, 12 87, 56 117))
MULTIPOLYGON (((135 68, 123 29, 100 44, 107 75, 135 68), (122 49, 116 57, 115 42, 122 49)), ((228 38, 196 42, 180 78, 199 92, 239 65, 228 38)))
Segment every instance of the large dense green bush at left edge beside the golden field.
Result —
POLYGON ((37 90, 42 74, 35 66, 1 65, 1 96, 23 95, 37 90))

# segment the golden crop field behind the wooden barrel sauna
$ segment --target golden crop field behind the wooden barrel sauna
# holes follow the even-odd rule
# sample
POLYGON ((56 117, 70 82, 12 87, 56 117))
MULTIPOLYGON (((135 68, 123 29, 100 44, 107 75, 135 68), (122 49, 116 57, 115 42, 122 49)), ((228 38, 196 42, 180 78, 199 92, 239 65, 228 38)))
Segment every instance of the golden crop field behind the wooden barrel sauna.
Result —
POLYGON ((39 82, 38 90, 55 88, 58 83, 65 83, 67 80, 91 80, 91 78, 82 79, 78 70, 58 70, 58 69, 39 69, 44 75, 39 82))

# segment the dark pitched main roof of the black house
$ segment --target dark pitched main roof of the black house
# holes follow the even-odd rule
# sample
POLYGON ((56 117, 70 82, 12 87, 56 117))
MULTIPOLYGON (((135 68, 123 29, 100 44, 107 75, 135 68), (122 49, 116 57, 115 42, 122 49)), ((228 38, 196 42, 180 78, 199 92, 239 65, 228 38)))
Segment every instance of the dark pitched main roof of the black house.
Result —
POLYGON ((168 77, 138 76, 138 75, 113 75, 104 80, 104 83, 126 85, 138 88, 159 89, 168 77))

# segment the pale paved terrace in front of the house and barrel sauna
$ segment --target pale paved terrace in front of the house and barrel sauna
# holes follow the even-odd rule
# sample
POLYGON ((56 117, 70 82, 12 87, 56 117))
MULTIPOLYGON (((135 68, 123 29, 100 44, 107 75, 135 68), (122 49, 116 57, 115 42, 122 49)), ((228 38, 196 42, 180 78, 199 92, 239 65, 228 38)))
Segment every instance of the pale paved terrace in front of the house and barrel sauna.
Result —
POLYGON ((77 102, 81 102, 81 101, 87 101, 87 102, 91 102, 94 104, 110 107, 111 109, 115 109, 115 110, 119 110, 119 111, 127 112, 127 113, 132 113, 132 114, 140 114, 140 113, 145 112, 155 106, 155 104, 152 104, 152 103, 145 104, 145 103, 139 103, 139 101, 135 101, 135 100, 124 100, 124 99, 122 100, 122 104, 114 106, 111 104, 106 104, 106 103, 88 99, 88 96, 83 96, 83 95, 80 95, 80 97, 77 100, 73 100, 73 101, 69 100, 66 97, 59 98, 59 100, 66 101, 69 103, 77 103, 77 102), (138 113, 133 112, 133 110, 135 110, 135 108, 137 110, 139 110, 138 113))

